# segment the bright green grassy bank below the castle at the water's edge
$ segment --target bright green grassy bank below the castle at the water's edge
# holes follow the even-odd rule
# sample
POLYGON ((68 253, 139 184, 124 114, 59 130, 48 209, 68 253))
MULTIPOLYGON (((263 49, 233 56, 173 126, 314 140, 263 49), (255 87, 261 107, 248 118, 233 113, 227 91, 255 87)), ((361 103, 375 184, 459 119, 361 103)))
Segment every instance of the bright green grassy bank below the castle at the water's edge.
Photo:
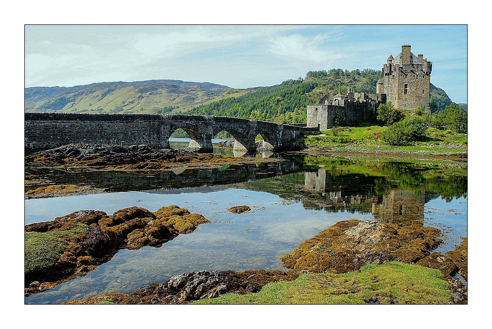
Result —
POLYGON ((394 155, 436 156, 467 153, 468 137, 464 133, 440 131, 429 128, 424 141, 407 146, 388 145, 381 139, 386 126, 342 127, 344 131, 335 136, 332 130, 322 130, 318 136, 302 136, 298 142, 312 151, 335 153, 381 153, 394 155))

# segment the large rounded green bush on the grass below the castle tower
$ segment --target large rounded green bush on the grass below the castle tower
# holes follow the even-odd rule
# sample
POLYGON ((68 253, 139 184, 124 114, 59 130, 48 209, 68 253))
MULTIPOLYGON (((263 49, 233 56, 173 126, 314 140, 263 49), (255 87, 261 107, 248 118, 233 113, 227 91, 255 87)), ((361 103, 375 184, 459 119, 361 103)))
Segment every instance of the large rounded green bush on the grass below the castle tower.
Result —
POLYGON ((421 117, 406 117, 403 121, 390 126, 381 133, 384 142, 390 145, 408 145, 410 142, 422 140, 427 132, 427 125, 421 117))

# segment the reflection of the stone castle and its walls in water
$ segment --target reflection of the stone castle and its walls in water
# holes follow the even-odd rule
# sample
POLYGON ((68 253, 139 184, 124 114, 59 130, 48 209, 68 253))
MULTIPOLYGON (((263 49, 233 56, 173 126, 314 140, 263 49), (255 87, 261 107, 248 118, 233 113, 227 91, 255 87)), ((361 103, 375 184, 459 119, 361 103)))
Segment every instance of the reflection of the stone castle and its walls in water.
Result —
POLYGON ((386 223, 422 224, 424 221, 425 192, 414 193, 408 190, 393 189, 387 192, 387 195, 378 197, 374 193, 374 184, 364 182, 367 180, 366 177, 362 179, 360 176, 344 177, 343 182, 335 182, 331 178, 330 174, 327 177, 326 170, 323 168, 319 168, 318 172, 306 172, 305 190, 316 193, 318 198, 334 206, 335 210, 371 212, 375 219, 386 223), (347 180, 352 181, 351 183, 354 180, 361 182, 347 184, 349 183, 347 180), (353 191, 354 186, 359 187, 358 191, 353 191))

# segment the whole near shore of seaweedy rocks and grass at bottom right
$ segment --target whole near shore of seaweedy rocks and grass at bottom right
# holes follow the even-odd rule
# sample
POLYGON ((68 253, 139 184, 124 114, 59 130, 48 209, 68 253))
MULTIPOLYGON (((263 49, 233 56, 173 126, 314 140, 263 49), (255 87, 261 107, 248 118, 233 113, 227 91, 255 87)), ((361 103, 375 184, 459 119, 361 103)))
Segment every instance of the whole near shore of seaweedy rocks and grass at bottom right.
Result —
POLYGON ((263 298, 262 303, 309 303, 314 302, 312 298, 318 298, 317 295, 321 296, 320 302, 331 300, 331 303, 466 303, 467 288, 453 277, 459 272, 467 278, 466 238, 445 255, 430 253, 442 242, 440 235, 440 230, 418 224, 398 226, 379 221, 341 221, 284 255, 281 260, 289 271, 187 272, 129 295, 109 293, 68 303, 181 304, 197 300, 215 303, 215 299, 210 298, 216 298, 217 303, 255 303, 259 296, 263 298), (422 266, 434 272, 420 270, 422 266), (295 280, 292 284, 280 285, 292 280, 295 280), (277 296, 285 291, 282 287, 290 289, 290 299, 277 296), (312 292, 300 298, 306 289, 312 292), (275 293, 270 294, 270 290, 275 293), (256 292, 260 294, 251 295, 256 292), (246 294, 246 297, 227 295, 231 293, 246 294), (340 299, 340 294, 345 297, 340 299))

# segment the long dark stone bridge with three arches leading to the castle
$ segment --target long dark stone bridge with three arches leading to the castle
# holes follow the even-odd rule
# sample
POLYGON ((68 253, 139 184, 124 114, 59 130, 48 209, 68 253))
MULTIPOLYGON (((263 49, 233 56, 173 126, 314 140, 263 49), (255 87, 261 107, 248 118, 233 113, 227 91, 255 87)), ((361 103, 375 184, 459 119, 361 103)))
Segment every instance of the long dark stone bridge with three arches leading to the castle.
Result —
POLYGON ((24 118, 25 147, 33 149, 79 142, 169 148, 169 136, 181 128, 199 152, 212 152, 212 138, 222 131, 236 139, 235 151, 268 152, 301 133, 319 134, 317 127, 205 115, 25 113, 24 118), (263 144, 257 149, 258 134, 263 144))

